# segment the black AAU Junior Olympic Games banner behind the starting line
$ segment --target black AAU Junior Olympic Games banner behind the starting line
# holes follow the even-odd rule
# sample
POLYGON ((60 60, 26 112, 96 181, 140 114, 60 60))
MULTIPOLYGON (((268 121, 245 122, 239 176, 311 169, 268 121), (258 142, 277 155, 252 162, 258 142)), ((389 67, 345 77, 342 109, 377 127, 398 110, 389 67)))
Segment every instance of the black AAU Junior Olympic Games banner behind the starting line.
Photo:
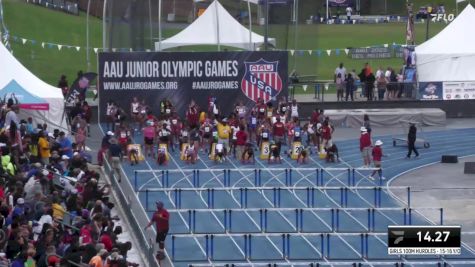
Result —
POLYGON ((222 114, 238 101, 276 100, 288 95, 287 61, 287 51, 100 53, 101 119, 108 101, 129 114, 134 96, 154 114, 168 99, 180 115, 191 100, 207 110, 213 97, 222 114))

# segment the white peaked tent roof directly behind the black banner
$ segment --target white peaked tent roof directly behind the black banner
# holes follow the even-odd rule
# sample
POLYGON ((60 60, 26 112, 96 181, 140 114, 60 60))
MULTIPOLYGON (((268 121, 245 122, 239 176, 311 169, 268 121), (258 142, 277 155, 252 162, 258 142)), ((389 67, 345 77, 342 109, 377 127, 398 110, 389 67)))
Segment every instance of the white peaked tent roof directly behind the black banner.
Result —
MULTIPOLYGON (((275 44, 275 39, 269 38, 275 44)), ((155 43, 155 49, 163 50, 187 45, 226 45, 242 49, 254 50, 264 43, 264 37, 252 32, 236 21, 231 14, 215 0, 205 12, 191 25, 160 44, 155 43), (251 38, 251 41, 249 40, 251 38), (252 43, 252 44, 251 44, 252 43)))

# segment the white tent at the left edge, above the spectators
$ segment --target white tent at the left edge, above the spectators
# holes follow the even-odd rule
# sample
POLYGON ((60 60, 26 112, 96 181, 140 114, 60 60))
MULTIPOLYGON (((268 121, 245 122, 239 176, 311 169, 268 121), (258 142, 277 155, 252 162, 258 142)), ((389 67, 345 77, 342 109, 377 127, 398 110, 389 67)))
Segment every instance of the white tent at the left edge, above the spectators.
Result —
POLYGON ((59 88, 51 86, 25 68, 0 42, 0 89, 12 80, 30 94, 46 100, 48 111, 21 110, 20 117, 32 117, 37 123, 47 123, 50 129, 61 127, 67 130, 64 115, 64 97, 59 88))

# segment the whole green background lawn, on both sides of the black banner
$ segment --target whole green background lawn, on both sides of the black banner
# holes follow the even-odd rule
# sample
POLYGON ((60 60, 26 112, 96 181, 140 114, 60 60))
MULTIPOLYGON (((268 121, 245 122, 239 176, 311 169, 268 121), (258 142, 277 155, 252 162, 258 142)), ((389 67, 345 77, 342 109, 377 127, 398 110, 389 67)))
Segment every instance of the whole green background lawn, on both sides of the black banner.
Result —
MULTIPOLYGON (((393 1, 393 0, 388 0, 393 1)), ((399 1, 399 0, 398 0, 399 1)), ((415 0, 415 6, 423 5, 430 1, 415 0)), ((446 2, 447 7, 454 6, 454 1, 446 2), (451 4, 449 4, 449 2, 451 4)), ((12 42, 14 55, 33 73, 46 82, 56 85, 59 76, 66 74, 70 83, 76 77, 78 70, 86 70, 86 17, 65 14, 49 10, 21 0, 4 0, 5 22, 11 35, 36 40, 36 44, 21 41, 12 42), (41 47, 41 42, 51 42, 80 46, 80 52, 75 49, 63 48, 58 51, 56 47, 41 47)), ((462 9, 460 4, 460 10, 462 9)), ((301 75, 316 75, 318 79, 332 79, 333 71, 339 62, 343 62, 347 69, 359 70, 368 61, 373 68, 377 66, 393 66, 398 68, 402 60, 398 58, 383 60, 352 60, 345 55, 343 49, 347 47, 365 47, 370 45, 404 43, 404 23, 371 24, 371 25, 299 25, 297 32, 293 27, 285 25, 270 26, 270 36, 277 39, 280 49, 305 50, 303 55, 295 53, 289 56, 289 71, 295 69, 301 75), (341 49, 340 55, 328 56, 327 49, 341 49), (312 50, 312 55, 306 50, 312 50), (315 50, 321 50, 318 57, 315 50)), ((425 40, 425 24, 416 24, 416 43, 425 40)), ((444 23, 431 23, 430 36, 437 34, 444 23)), ((254 31, 263 33, 263 28, 254 26, 254 31)), ((163 36, 169 37, 177 33, 178 29, 164 29, 163 36)), ((97 18, 90 18, 90 43, 91 47, 102 46, 102 23, 97 18)), ((174 51, 210 51, 213 46, 183 47, 174 51)), ((92 71, 97 70, 97 55, 91 51, 92 71)), ((297 90, 300 91, 300 90, 297 90)), ((310 90, 308 90, 310 91, 310 90)), ((307 92, 308 92, 307 91, 307 92)))

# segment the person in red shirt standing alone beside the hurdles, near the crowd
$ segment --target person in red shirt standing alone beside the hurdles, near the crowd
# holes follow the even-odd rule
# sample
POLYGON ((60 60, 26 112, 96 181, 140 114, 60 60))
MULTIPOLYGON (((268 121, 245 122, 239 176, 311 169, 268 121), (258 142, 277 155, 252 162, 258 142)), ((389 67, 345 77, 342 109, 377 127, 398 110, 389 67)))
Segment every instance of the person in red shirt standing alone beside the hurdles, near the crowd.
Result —
POLYGON ((156 230, 157 230, 157 237, 155 242, 158 243, 158 252, 157 257, 163 259, 165 257, 165 239, 167 238, 168 230, 169 230, 169 221, 170 221, 170 214, 168 211, 163 207, 163 202, 157 201, 155 203, 157 205, 157 211, 152 216, 152 220, 145 226, 145 229, 149 228, 153 223, 155 223, 156 230))

